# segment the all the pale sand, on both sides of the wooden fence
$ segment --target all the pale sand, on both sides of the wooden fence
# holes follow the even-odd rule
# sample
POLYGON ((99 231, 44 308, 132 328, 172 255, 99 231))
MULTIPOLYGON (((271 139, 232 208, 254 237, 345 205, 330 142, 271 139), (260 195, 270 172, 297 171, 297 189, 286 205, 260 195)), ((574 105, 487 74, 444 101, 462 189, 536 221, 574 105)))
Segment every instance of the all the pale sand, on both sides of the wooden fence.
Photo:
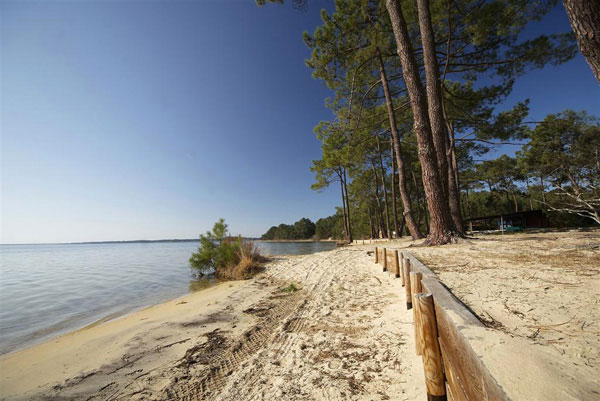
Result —
MULTIPOLYGON (((431 267, 485 322, 471 345, 511 399, 598 399, 598 231, 414 244, 381 245, 431 267)), ((277 257, 251 280, 5 355, 3 399, 425 400, 412 311, 373 249, 277 257)))

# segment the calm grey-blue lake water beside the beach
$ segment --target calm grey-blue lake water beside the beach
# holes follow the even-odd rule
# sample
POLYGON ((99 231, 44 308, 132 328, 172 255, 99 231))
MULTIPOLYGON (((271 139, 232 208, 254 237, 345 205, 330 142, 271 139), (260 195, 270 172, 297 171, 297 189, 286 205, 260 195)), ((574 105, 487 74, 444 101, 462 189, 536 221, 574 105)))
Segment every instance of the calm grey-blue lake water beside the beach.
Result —
MULTIPOLYGON (((256 243, 307 254, 335 243, 256 243)), ((198 242, 0 245, 0 355, 214 285, 188 259, 198 242)))

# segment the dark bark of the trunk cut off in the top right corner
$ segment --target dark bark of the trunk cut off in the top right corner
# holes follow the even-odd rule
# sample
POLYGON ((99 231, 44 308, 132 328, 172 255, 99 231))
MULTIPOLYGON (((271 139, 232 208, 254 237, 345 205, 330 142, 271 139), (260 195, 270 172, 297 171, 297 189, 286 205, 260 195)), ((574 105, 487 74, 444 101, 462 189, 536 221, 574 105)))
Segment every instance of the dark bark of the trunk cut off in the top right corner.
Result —
POLYGON ((563 0, 581 54, 600 82, 600 1, 563 0))

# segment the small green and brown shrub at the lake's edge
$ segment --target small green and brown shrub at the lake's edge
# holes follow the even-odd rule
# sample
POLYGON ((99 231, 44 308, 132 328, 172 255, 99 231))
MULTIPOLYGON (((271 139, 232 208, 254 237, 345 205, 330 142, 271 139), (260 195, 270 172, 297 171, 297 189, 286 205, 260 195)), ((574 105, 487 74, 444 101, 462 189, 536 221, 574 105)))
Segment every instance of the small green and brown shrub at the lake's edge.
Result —
POLYGON ((198 252, 192 254, 190 264, 200 275, 239 280, 256 273, 264 260, 252 242, 231 238, 225 220, 219 219, 212 231, 200 235, 198 252))

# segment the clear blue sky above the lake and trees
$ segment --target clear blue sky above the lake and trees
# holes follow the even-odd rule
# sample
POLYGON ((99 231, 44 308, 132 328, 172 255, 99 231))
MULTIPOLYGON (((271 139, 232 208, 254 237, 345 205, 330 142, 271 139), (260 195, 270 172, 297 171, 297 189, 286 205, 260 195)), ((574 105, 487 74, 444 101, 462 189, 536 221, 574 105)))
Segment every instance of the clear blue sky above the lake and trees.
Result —
MULTIPOLYGON (((316 220, 312 132, 328 91, 287 4, 0 2, 3 243, 191 238, 224 217, 257 236, 316 220)), ((536 29, 569 29, 557 8, 536 29)), ((532 117, 600 111, 581 56, 518 81, 532 117)))

